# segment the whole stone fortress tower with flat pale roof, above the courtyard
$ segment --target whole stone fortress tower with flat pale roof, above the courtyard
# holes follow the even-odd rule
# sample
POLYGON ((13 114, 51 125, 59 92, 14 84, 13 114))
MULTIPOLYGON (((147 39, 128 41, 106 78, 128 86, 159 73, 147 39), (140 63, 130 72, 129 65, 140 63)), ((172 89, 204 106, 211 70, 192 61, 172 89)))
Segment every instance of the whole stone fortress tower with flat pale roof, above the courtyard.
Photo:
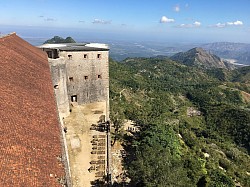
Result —
POLYGON ((106 101, 109 106, 109 48, 106 44, 44 44, 39 48, 48 55, 61 118, 69 115, 73 104, 106 101))

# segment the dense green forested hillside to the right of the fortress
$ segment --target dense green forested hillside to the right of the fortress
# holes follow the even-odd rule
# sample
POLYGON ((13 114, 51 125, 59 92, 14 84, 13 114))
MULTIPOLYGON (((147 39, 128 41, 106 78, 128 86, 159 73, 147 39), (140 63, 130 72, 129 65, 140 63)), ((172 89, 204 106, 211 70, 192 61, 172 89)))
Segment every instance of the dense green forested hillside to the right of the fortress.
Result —
POLYGON ((250 186, 249 68, 110 61, 111 119, 130 186, 250 186), (132 120, 140 131, 122 130, 132 120))

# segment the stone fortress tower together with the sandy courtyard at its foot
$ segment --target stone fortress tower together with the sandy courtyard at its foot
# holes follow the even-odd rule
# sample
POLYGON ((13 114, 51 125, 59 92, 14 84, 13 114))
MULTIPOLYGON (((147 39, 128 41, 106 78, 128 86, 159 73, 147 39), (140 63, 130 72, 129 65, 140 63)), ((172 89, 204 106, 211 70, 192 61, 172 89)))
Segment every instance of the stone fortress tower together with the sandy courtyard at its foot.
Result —
POLYGON ((109 120, 108 45, 65 43, 39 48, 47 53, 60 123, 67 129, 63 140, 70 183, 88 186, 110 174, 110 134, 90 130, 100 118, 102 124, 109 120), (96 140, 103 145, 93 146, 96 140))

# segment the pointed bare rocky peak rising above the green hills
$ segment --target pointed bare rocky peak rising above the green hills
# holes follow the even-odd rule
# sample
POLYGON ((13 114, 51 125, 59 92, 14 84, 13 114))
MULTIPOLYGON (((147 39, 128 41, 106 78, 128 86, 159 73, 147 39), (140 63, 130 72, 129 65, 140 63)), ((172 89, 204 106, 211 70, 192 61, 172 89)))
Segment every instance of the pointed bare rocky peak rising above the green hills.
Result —
POLYGON ((187 52, 177 53, 171 59, 187 66, 227 68, 227 65, 218 56, 210 54, 202 48, 193 48, 187 52))

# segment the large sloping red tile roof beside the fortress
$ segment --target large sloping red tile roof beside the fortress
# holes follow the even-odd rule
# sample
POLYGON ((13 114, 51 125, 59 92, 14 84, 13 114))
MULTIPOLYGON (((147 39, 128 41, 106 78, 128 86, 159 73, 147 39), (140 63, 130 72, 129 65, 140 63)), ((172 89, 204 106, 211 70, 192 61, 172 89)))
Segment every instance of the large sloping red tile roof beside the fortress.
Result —
POLYGON ((47 55, 16 34, 0 38, 0 186, 61 186, 61 155, 47 55))

